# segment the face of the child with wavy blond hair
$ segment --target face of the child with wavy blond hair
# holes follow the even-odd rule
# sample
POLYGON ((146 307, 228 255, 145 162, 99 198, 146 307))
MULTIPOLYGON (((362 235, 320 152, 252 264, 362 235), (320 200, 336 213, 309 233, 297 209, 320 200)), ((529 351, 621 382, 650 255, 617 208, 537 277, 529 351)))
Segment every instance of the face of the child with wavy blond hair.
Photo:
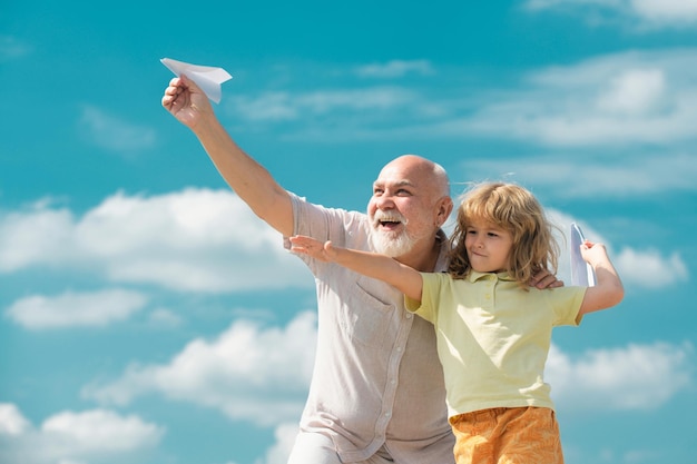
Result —
POLYGON ((472 269, 478 273, 507 270, 513 237, 511 233, 484 220, 473 220, 467 228, 464 245, 472 269))

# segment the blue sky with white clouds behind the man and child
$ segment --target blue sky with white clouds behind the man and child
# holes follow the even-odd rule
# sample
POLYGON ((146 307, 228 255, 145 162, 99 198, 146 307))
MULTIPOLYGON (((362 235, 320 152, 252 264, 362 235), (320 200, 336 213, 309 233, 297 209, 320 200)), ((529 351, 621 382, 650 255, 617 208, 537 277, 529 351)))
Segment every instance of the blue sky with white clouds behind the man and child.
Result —
POLYGON ((313 279, 160 107, 164 57, 228 70, 220 120, 312 201, 412 152, 581 224, 626 297, 554 333, 567 462, 694 461, 697 1, 1 10, 0 463, 285 463, 313 279))

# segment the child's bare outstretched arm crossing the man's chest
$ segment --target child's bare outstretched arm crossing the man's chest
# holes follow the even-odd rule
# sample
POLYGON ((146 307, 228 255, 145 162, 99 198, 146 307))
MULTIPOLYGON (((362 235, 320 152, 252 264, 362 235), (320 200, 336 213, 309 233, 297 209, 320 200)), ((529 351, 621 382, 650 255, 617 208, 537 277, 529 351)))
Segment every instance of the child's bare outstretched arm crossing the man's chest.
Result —
POLYGON ((392 285, 404 295, 421 302, 423 278, 421 274, 385 255, 335 247, 331 241, 322 243, 311 237, 291 237, 291 251, 303 253, 315 259, 336 263, 359 274, 392 285))

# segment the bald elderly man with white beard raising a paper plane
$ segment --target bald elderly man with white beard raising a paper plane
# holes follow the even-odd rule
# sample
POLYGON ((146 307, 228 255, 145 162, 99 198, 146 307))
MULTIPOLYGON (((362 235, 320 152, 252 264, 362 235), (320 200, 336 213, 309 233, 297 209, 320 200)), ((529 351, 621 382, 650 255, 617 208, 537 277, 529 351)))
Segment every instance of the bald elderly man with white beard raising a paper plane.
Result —
MULTIPOLYGON (((284 237, 380 251, 424 272, 446 268, 441 226, 453 203, 439 165, 413 155, 389 162, 373 185, 367 215, 324 208, 283 189, 246 155, 186 76, 170 81, 163 106, 196 135, 239 198, 284 237)), ((317 352, 288 463, 452 464, 433 327, 404 310, 393 287, 301 258, 316 277, 317 352)), ((539 278, 540 287, 560 285, 547 273, 539 278)))

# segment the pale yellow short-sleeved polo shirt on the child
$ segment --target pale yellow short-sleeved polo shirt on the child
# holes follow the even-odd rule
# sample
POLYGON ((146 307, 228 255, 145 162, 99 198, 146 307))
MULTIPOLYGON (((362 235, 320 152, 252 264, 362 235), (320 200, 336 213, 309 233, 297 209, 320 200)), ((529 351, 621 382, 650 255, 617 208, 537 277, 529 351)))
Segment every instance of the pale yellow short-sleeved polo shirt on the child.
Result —
POLYGON ((507 273, 422 273, 421 303, 443 365, 449 416, 493 407, 553 408, 543 372, 552 327, 578 325, 586 287, 522 289, 507 273))

